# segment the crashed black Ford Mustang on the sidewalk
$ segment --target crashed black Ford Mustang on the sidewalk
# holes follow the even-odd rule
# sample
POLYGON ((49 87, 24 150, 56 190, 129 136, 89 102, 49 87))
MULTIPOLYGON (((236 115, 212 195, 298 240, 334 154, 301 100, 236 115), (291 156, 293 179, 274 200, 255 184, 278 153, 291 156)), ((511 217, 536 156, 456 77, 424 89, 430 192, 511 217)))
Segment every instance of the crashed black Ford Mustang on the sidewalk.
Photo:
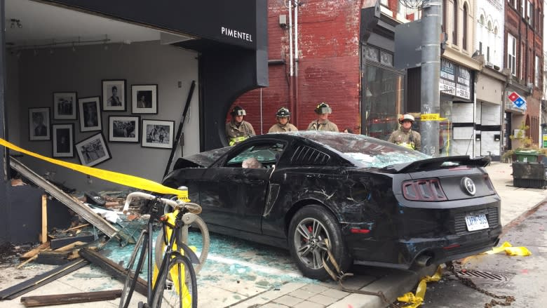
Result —
POLYGON ((500 199, 486 163, 301 131, 178 159, 163 184, 187 186, 213 232, 288 248, 305 276, 325 279, 327 247, 345 270, 440 264, 495 246, 500 199), (262 166, 243 168, 251 157, 262 166))

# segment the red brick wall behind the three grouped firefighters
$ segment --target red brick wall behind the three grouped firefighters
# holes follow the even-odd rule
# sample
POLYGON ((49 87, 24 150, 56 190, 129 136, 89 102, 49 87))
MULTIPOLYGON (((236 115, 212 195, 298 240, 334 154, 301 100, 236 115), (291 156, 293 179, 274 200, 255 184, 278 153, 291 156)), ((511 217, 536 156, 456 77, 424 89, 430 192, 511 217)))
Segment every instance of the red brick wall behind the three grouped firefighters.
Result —
MULTIPOLYGON (((315 119, 313 109, 327 102, 329 119, 340 130, 358 128, 359 117, 359 0, 307 0, 299 7, 298 100, 291 110, 299 129, 315 119)), ((284 0, 269 0, 269 59, 285 65, 269 66, 269 87, 262 89, 262 130, 267 133, 276 121, 279 107, 290 107, 288 28, 279 26, 279 15, 288 15, 284 0)), ((288 16, 287 16, 288 21, 288 16)), ((294 53, 294 51, 293 51, 294 53)), ((241 105, 257 133, 260 132, 260 90, 241 95, 241 105)), ((227 116, 229 119, 229 116, 227 116)))

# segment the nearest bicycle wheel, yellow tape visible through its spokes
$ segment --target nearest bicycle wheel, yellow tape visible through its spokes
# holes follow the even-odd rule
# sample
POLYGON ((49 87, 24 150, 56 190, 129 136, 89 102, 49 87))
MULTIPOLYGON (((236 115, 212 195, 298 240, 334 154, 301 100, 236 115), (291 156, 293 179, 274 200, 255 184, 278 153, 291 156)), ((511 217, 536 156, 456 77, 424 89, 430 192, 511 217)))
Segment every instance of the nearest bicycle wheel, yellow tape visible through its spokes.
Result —
POLYGON ((178 253, 173 255, 169 266, 156 280, 152 308, 197 308, 198 284, 194 267, 188 257, 178 253))

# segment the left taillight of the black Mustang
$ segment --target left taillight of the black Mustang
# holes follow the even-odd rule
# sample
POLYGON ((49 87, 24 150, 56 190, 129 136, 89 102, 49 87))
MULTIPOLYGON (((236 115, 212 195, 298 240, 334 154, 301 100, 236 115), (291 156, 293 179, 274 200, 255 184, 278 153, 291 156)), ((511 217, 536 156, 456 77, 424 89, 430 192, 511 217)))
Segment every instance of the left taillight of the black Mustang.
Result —
POLYGON ((445 201, 447 197, 438 179, 403 182, 403 196, 411 201, 445 201))

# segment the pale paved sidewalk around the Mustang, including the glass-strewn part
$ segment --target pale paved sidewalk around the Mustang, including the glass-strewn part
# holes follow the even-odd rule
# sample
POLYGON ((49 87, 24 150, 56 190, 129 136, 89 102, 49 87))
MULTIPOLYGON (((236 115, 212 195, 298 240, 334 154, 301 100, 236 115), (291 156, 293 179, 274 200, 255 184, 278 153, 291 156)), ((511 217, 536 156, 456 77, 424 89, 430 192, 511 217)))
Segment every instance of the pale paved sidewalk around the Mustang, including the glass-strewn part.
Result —
MULTIPOLYGON (((501 196, 501 222, 507 225, 522 213, 546 199, 543 189, 513 187, 511 164, 492 163, 487 167, 490 178, 501 196)), ((108 248, 107 248, 108 249, 108 248)), ((128 251, 131 247, 128 246, 128 251)), ((110 257, 126 255, 111 249, 110 257)), ((0 289, 41 274, 53 266, 29 264, 22 269, 0 265, 0 289)), ((374 267, 351 268, 356 275, 347 279, 348 288, 376 292, 382 290, 389 301, 414 291, 420 276, 433 274, 434 269, 397 271, 374 267)), ((90 265, 46 286, 23 295, 50 295, 122 288, 101 269, 90 265)), ((379 297, 339 290, 334 282, 307 279, 299 273, 288 251, 263 246, 227 236, 212 234, 210 255, 198 276, 198 307, 386 307, 379 297)), ((137 295, 137 301, 143 297, 137 295)), ((136 302, 135 302, 136 303, 136 302)), ((118 300, 67 304, 63 307, 117 307, 118 300)), ((24 307, 20 299, 0 302, 1 307, 24 307)), ((135 304, 136 306, 136 304, 135 304)))

